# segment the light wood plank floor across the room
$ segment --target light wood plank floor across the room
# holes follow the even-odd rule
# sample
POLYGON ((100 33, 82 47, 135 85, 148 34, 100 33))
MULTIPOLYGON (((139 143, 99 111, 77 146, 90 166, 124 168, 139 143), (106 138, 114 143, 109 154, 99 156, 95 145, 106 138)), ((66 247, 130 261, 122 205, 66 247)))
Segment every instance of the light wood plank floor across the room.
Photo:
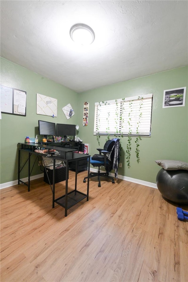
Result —
MULTIPOLYGON (((86 172, 78 190, 86 192, 86 172)), ((70 172, 69 183, 72 183, 70 172)), ((56 184, 56 198, 65 182, 56 184)), ((74 188, 74 185, 73 185, 74 188)), ((180 206, 188 210, 188 206, 180 206)), ((188 222, 157 189, 90 181, 89 201, 55 204, 43 179, 1 189, 1 282, 188 281, 188 222)))

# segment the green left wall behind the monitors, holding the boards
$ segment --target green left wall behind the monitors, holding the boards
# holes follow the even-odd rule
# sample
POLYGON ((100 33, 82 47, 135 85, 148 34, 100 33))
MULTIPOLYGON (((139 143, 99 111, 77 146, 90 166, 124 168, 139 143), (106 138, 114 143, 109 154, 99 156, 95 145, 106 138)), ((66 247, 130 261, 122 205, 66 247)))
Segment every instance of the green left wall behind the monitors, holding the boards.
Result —
MULTIPOLYGON (((0 121, 1 132, 1 179, 6 183, 18 179, 18 150, 17 143, 24 142, 25 137, 34 138, 38 134, 38 120, 55 123, 77 124, 78 119, 78 94, 63 85, 53 82, 37 73, 1 58, 1 84, 24 90, 26 95, 26 117, 2 113, 0 121), (58 100, 58 116, 50 117, 36 114, 36 93, 47 95, 58 100), (67 120, 62 108, 71 104, 75 115, 67 120)), ((39 141, 42 136, 38 136, 39 141)), ((26 157, 26 156, 25 156, 26 157)), ((25 160, 22 157, 22 163, 25 160)), ((32 156, 33 158, 34 156, 32 156)), ((34 159, 33 159, 34 160, 34 159)), ((31 175, 41 174, 40 167, 36 164, 31 175)), ((27 171, 22 171, 21 178, 27 176, 27 171)))

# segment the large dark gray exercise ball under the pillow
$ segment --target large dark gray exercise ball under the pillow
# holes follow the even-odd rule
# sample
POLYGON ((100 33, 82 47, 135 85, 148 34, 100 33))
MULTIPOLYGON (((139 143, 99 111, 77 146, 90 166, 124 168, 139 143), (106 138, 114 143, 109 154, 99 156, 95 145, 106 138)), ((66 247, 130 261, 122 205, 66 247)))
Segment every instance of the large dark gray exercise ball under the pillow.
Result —
POLYGON ((160 169, 156 177, 157 188, 165 199, 188 204, 188 171, 160 169))

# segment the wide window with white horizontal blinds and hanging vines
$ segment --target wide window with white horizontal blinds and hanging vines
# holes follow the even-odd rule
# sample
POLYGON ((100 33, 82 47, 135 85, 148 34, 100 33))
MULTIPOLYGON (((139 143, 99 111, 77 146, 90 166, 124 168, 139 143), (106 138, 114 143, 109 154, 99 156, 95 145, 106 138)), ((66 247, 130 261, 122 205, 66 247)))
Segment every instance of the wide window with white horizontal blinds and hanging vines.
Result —
POLYGON ((94 135, 151 133, 153 94, 95 103, 94 135))

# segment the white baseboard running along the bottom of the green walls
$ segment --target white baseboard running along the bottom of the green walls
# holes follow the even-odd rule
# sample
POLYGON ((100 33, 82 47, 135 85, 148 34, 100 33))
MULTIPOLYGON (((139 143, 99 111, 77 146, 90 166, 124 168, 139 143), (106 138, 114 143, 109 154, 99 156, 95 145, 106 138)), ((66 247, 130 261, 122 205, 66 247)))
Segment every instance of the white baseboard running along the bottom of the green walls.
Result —
MULTIPOLYGON (((90 168, 90 171, 91 172, 98 172, 98 169, 90 168)), ((109 175, 114 177, 113 173, 109 173, 109 175)), ((43 173, 42 174, 33 175, 33 176, 30 177, 30 180, 38 179, 38 178, 41 178, 43 176, 44 176, 43 173)), ((127 177, 127 176, 123 176, 123 175, 119 175, 119 174, 118 174, 118 178, 157 189, 157 184, 156 183, 147 182, 147 181, 143 181, 143 180, 140 180, 140 179, 136 179, 136 178, 132 178, 132 177, 127 177)), ((21 180, 23 182, 27 182, 28 181, 28 177, 22 178, 21 180)), ((7 187, 10 187, 10 186, 14 186, 14 185, 17 185, 17 184, 18 184, 18 180, 2 183, 2 184, 0 184, 0 189, 7 188, 7 187)))

